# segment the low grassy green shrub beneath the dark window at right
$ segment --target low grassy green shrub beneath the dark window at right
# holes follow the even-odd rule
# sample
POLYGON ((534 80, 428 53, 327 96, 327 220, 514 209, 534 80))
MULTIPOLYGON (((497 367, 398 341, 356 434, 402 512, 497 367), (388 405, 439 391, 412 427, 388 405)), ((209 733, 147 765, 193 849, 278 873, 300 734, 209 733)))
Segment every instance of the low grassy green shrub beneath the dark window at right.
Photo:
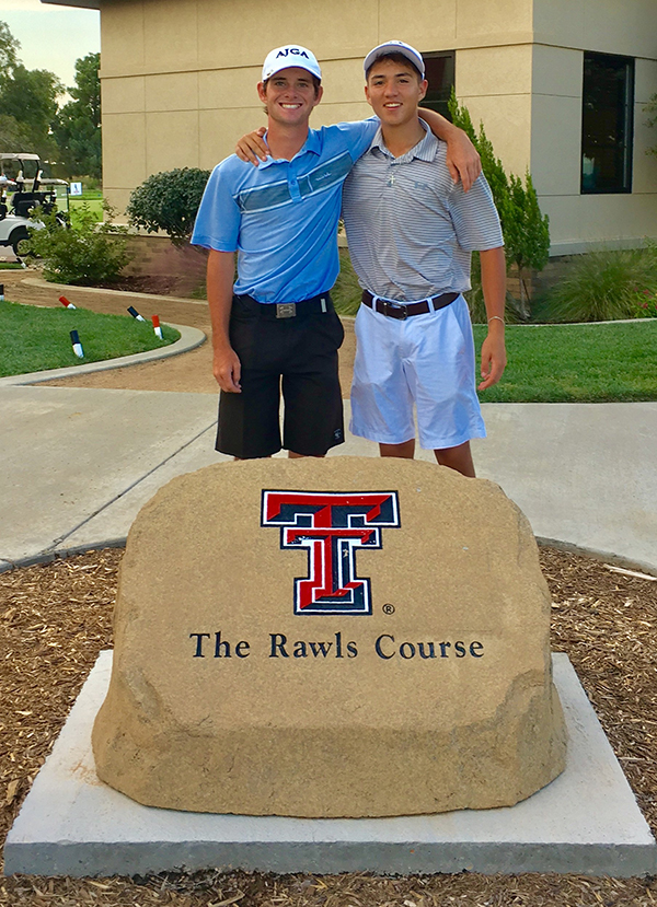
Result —
POLYGON ((609 322, 639 315, 644 291, 657 291, 655 247, 602 249, 576 255, 567 276, 548 295, 555 322, 609 322))

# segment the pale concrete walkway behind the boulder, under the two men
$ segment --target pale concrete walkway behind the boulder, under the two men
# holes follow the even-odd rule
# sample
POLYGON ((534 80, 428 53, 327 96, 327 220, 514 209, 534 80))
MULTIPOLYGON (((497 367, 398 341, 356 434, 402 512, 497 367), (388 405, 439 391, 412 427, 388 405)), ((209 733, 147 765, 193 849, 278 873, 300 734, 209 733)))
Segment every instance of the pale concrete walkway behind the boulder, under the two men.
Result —
MULTIPOLYGON (((484 417, 477 474, 537 536, 657 574, 657 403, 487 404, 484 417)), ((0 387, 0 570, 124 539, 158 488, 228 460, 216 418, 214 394, 0 387)), ((332 455, 377 454, 348 435, 332 455)))

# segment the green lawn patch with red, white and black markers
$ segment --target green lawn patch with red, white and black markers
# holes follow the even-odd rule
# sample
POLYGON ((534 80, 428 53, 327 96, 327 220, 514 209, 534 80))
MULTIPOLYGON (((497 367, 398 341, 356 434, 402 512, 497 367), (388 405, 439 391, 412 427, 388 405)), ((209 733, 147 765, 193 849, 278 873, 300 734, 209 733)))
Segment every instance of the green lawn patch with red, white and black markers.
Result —
POLYGON ((166 325, 162 325, 162 334, 164 339, 160 340, 150 322, 137 322, 131 315, 0 302, 0 376, 129 356, 165 347, 180 337, 166 325), (83 359, 73 352, 70 330, 79 334, 83 359))

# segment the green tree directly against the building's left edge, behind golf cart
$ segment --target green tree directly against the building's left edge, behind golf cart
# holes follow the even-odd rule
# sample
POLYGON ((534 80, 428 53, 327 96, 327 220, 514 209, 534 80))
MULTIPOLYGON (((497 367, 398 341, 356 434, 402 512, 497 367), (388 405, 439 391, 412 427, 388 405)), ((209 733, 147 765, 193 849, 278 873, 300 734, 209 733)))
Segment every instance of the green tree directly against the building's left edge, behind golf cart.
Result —
POLYGON ((101 177, 100 66, 100 54, 76 60, 76 85, 68 89, 73 100, 61 107, 53 125, 60 161, 69 176, 101 177))

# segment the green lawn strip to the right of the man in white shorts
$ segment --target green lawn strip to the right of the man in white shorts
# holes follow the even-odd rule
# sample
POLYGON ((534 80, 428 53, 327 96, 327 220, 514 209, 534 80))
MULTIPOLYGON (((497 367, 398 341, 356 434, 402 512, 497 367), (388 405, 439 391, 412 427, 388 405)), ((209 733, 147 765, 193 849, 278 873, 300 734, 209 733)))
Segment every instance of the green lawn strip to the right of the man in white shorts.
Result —
MULTIPOLYGON (((485 335, 474 325, 477 357, 485 335)), ((657 321, 509 325, 506 345, 507 369, 482 403, 657 399, 657 321)))

